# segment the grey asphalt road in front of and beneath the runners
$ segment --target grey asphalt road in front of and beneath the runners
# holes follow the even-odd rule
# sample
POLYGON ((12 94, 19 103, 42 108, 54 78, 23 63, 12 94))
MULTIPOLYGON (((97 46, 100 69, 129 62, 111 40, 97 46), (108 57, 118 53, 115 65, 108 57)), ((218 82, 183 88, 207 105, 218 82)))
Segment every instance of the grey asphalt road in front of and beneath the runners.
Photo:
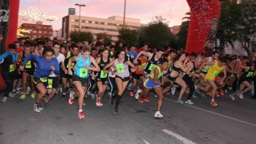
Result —
MULTIPOLYGON (((3 94, 0 94, 1 97, 3 94)), ((109 95, 103 106, 85 98, 86 118, 77 116, 77 100, 70 106, 60 94, 41 113, 33 112, 34 100, 9 97, 0 104, 0 144, 253 144, 256 135, 256 100, 246 94, 244 100, 217 97, 217 107, 210 97, 192 99, 193 106, 181 105, 176 96, 167 96, 155 119, 156 100, 139 103, 126 91, 119 113, 113 113, 109 95)), ((185 99, 184 95, 183 99, 185 99)))

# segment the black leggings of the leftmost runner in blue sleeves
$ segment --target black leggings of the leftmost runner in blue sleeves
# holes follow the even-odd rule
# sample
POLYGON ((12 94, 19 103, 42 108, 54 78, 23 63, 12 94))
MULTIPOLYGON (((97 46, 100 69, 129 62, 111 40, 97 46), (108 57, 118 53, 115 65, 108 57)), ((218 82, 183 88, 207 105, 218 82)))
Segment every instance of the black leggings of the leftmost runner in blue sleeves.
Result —
POLYGON ((4 97, 8 97, 9 93, 13 89, 13 81, 15 77, 13 76, 14 73, 9 73, 9 72, 1 72, 3 79, 7 85, 7 88, 5 90, 4 97))

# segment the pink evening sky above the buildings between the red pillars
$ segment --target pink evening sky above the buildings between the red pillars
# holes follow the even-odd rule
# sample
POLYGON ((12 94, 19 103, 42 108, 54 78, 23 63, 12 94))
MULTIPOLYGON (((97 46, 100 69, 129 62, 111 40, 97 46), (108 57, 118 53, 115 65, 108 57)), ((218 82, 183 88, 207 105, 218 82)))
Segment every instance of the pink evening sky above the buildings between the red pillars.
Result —
MULTIPOLYGON (((124 0, 20 0, 20 10, 27 10, 30 6, 38 7, 42 13, 56 15, 58 20, 52 22, 54 30, 62 27, 62 17, 67 15, 68 8, 79 7, 75 3, 85 4, 81 8, 81 15, 89 17, 107 18, 113 15, 123 16, 124 0)), ((180 25, 182 17, 189 12, 186 0, 127 0, 126 17, 141 19, 141 23, 148 23, 155 16, 162 16, 169 21, 169 26, 180 25)), ((49 24, 42 18, 44 24, 49 24)))

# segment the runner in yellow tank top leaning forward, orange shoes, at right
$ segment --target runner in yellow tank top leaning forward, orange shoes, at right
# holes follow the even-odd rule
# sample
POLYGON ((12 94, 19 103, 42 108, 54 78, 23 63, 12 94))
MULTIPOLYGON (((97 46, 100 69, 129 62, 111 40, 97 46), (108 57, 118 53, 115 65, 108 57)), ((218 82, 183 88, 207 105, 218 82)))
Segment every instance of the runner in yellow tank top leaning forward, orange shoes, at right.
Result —
MULTIPOLYGON (((223 71, 224 77, 222 78, 222 81, 225 80, 225 78, 227 77, 227 72, 225 69, 226 62, 227 62, 227 58, 223 56, 223 57, 220 57, 218 59, 218 61, 216 61, 216 62, 204 62, 204 63, 202 63, 202 66, 201 66, 201 68, 202 68, 204 65, 211 65, 207 74, 205 75, 205 81, 207 82, 206 86, 198 86, 198 89, 205 93, 208 92, 209 88, 212 89, 211 90, 211 105, 212 106, 217 106, 217 102, 214 101, 214 95, 217 90, 217 86, 214 82, 214 79, 220 72, 223 71)), ((203 92, 201 93, 202 95, 205 94, 203 92)))

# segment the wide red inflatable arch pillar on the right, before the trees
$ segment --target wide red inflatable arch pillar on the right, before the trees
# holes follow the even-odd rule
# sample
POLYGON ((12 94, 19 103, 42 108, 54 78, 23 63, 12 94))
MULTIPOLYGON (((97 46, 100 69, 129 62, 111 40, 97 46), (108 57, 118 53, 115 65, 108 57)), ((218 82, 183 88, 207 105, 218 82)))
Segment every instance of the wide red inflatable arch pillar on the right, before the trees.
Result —
POLYGON ((210 55, 217 32, 221 6, 219 0, 187 0, 191 15, 186 52, 210 55))

